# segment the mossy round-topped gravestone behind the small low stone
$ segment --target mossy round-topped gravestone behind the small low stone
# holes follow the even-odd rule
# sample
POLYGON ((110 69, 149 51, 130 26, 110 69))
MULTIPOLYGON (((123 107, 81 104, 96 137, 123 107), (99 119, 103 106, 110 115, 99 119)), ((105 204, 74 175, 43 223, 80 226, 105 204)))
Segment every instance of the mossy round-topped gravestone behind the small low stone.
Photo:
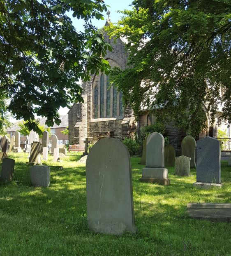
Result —
POLYGON ((181 142, 181 155, 185 155, 191 158, 190 168, 196 168, 196 141, 195 139, 187 135, 181 142))

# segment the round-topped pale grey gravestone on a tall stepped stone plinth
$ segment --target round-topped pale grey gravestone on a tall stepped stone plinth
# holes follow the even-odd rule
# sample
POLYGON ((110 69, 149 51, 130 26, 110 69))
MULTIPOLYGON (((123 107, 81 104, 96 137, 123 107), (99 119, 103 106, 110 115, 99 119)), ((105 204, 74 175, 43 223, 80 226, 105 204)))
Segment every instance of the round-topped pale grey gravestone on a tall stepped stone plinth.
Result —
POLYGON ((168 169, 164 168, 164 137, 158 132, 148 136, 146 146, 146 167, 143 168, 142 182, 169 185, 168 169))

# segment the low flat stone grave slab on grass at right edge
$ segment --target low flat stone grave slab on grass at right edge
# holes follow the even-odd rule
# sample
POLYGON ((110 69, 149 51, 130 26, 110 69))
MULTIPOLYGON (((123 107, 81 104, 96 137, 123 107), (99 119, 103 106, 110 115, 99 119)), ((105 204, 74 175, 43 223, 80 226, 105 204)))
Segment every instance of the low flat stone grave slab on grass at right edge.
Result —
POLYGON ((187 213, 196 219, 231 222, 231 203, 189 203, 187 213))

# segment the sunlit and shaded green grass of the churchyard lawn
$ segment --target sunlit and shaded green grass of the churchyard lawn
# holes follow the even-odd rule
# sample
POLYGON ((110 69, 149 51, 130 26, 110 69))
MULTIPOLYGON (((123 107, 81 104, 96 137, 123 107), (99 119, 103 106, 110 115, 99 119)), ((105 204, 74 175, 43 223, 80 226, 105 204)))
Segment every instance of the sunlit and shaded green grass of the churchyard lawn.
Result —
MULTIPOLYGON (((70 153, 51 167, 49 188, 30 186, 28 159, 16 160, 14 181, 0 184, 0 256, 92 255, 231 255, 231 223, 194 220, 185 213, 188 202, 231 202, 231 167, 222 162, 221 189, 199 190, 192 176, 174 175, 170 186, 141 183, 140 158, 132 158, 136 235, 95 234, 86 218, 85 166, 70 153)), ((51 160, 51 158, 49 159, 51 160)))

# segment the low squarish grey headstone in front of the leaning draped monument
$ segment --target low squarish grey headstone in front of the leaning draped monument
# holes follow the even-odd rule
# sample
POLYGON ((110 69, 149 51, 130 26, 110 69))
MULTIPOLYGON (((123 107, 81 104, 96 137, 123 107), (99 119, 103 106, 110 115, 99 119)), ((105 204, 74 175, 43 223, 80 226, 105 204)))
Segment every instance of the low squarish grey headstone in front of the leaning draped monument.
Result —
POLYGON ((49 187, 50 167, 46 165, 35 165, 30 167, 30 181, 35 187, 49 187))

